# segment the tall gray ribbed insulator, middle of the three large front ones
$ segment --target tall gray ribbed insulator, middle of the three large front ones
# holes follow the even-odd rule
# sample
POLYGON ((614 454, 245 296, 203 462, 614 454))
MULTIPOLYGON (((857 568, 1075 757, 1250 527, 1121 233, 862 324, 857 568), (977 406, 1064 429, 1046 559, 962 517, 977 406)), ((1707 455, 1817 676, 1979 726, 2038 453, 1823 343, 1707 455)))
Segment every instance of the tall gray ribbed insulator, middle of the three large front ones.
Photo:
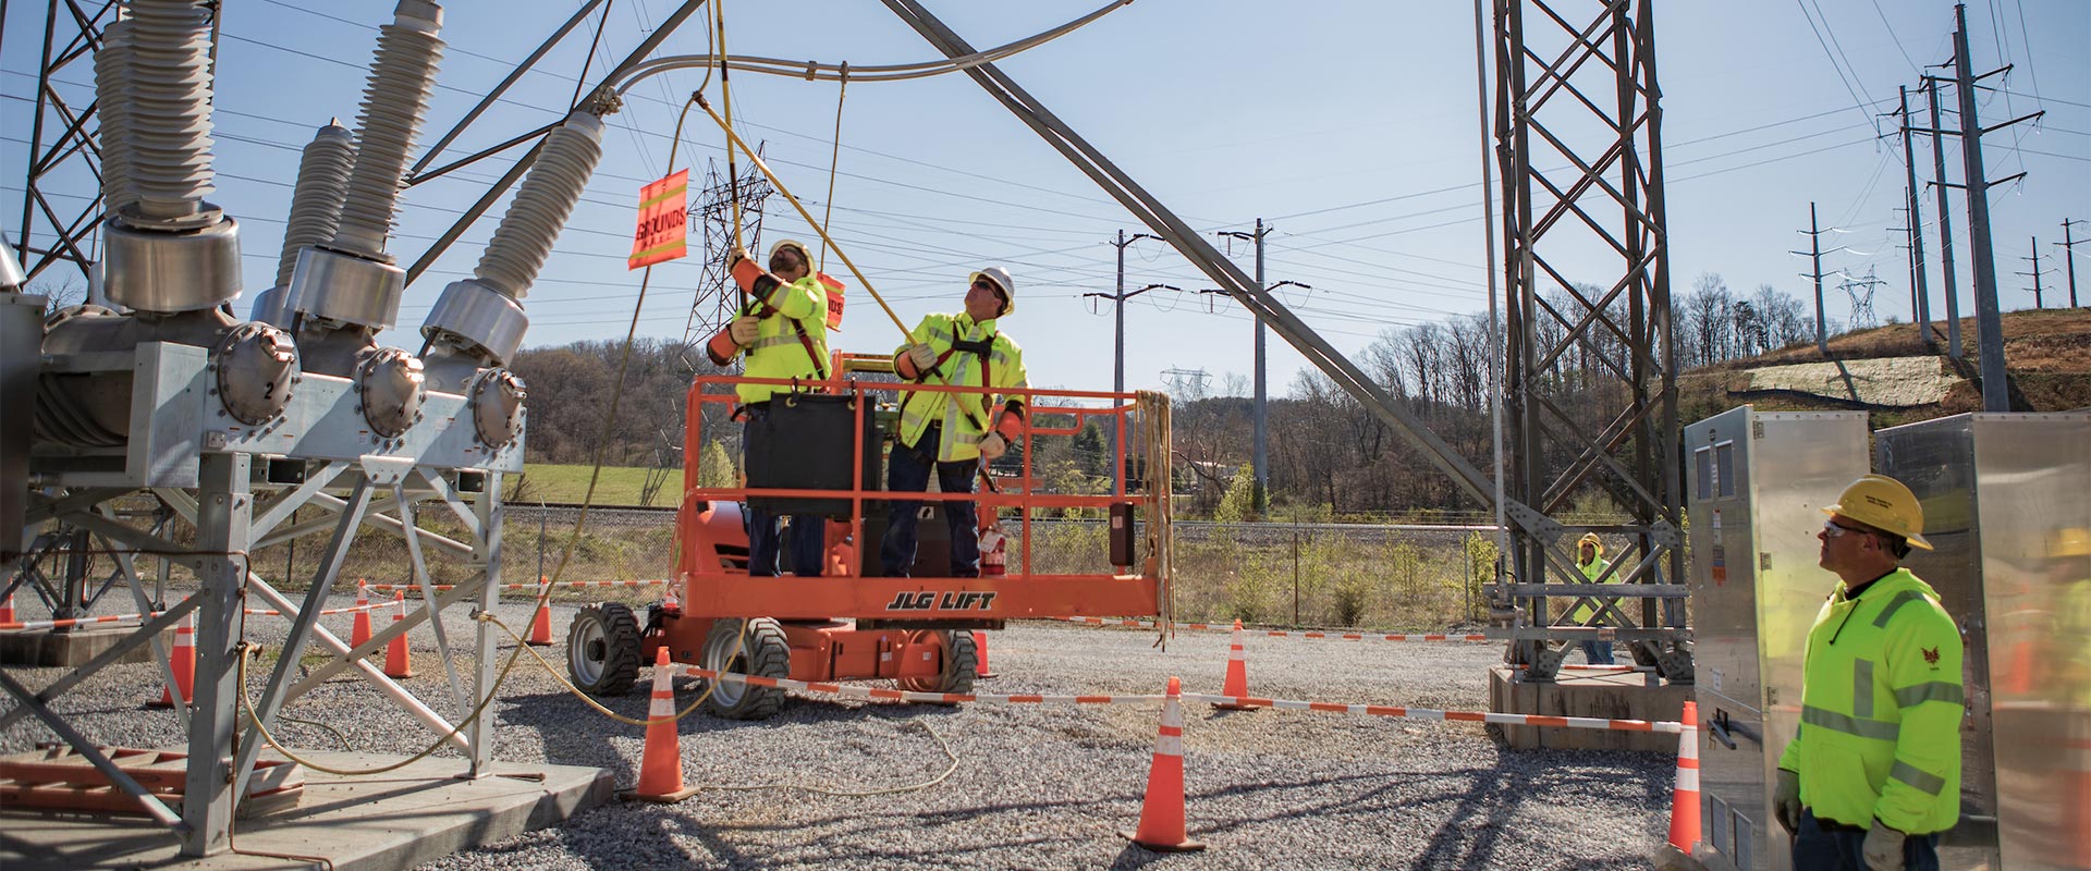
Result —
POLYGON ((355 119, 355 169, 341 205, 341 228, 332 249, 383 259, 406 175, 408 148, 420 134, 435 88, 435 67, 443 58, 443 8, 427 0, 401 0, 393 23, 381 27, 376 58, 355 119))

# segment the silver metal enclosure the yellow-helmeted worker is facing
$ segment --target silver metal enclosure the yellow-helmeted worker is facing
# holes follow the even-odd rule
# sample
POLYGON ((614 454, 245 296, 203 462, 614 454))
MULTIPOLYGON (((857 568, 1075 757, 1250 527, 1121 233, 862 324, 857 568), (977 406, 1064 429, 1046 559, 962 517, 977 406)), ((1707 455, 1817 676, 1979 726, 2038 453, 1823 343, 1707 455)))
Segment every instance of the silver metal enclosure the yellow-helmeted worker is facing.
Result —
POLYGON ((1823 505, 1867 472, 1863 411, 1756 411, 1685 428, 1702 833, 1710 869, 1788 869, 1767 783, 1800 723, 1800 660, 1836 576, 1823 505))

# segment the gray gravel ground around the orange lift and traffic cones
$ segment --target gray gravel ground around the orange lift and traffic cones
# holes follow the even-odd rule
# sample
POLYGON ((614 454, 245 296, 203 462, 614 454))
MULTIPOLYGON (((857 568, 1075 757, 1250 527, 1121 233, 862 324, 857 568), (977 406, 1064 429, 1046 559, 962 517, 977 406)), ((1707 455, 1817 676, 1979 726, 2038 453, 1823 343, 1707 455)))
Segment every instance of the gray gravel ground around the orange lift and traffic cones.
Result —
MULTIPOLYGON (((17 599, 19 602, 19 599, 17 599)), ((349 604, 335 597, 330 606, 349 604)), ((554 606, 562 635, 575 608, 554 606)), ((23 608, 25 618, 31 608, 23 608)), ((383 614, 383 612, 381 612, 383 614)), ((462 610, 454 645, 468 643, 462 610)), ((502 608, 519 631, 527 608, 502 608)), ((347 635, 347 616, 326 625, 347 635)), ((381 620, 383 625, 383 620, 381 620)), ((282 618, 251 616, 249 637, 280 643, 282 618)), ((450 716, 445 679, 427 627, 412 633, 412 681, 450 716)), ((991 693, 1158 693, 1169 675, 1186 691, 1217 691, 1227 633, 1184 633, 1167 650, 1154 633, 1060 622, 989 633, 983 681, 991 693)), ((565 650, 542 648, 562 664, 565 650)), ((502 654, 506 658, 506 650, 502 654)), ((1248 639, 1259 696, 1480 710, 1485 643, 1355 643, 1248 639)), ((460 668, 468 658, 458 658, 460 668)), ((121 746, 178 744, 157 666, 125 664, 75 687, 56 708, 88 735, 121 746)), ((257 668, 259 670, 259 668, 257 668)), ((13 668, 42 687, 61 668, 13 668)), ((251 677, 259 687, 261 675, 251 677)), ((680 704, 694 700, 677 681, 680 704)), ((644 716, 642 685, 606 700, 644 716)), ((326 683, 286 710, 328 727, 284 723, 291 746, 408 752, 431 741, 414 721, 355 677, 326 683), (339 729, 339 735, 332 731, 339 729)), ((638 775, 642 729, 588 710, 525 656, 502 700, 504 760, 594 764, 621 785, 638 775)), ((1625 752, 1497 748, 1470 723, 1393 721, 1322 712, 1186 708, 1186 810, 1207 852, 1163 856, 1127 844, 1138 825, 1154 748, 1156 706, 901 706, 792 698, 763 723, 694 714, 682 721, 684 777, 707 785, 675 804, 611 804, 565 827, 460 852, 429 869, 598 867, 1652 867, 1669 825, 1673 758, 1625 752), (958 764, 947 779, 920 787, 958 764), (828 796, 795 785, 876 796, 828 796), (728 790, 732 787, 732 790, 728 790)), ((52 739, 38 723, 0 733, 0 752, 52 739)))

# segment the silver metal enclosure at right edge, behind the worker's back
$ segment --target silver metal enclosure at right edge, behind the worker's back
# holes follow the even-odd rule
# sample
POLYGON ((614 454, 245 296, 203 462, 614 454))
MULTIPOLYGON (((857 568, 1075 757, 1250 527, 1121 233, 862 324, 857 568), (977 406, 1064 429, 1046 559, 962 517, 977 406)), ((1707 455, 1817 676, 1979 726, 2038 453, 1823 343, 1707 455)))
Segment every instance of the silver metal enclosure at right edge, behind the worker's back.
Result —
POLYGON ((1961 414, 1880 430, 1924 501, 1905 564, 1968 641, 1961 825, 2005 869, 2091 869, 2091 414, 1961 414))

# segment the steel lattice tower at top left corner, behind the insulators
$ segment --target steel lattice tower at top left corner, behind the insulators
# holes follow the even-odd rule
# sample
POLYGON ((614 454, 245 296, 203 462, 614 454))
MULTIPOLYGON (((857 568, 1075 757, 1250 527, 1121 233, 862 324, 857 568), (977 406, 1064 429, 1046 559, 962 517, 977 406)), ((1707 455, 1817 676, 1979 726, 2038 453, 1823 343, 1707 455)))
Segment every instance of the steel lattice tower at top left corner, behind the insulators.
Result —
POLYGON ((115 21, 115 0, 44 4, 44 54, 36 69, 29 165, 23 173, 21 223, 13 234, 23 274, 31 280, 54 263, 73 263, 79 276, 92 282, 88 269, 94 257, 88 255, 92 251, 88 238, 102 226, 98 102, 73 107, 59 94, 54 77, 73 65, 92 67, 102 27, 115 21), (54 205, 56 194, 44 190, 44 180, 63 178, 77 186, 82 173, 92 180, 96 194, 79 209, 54 205))

